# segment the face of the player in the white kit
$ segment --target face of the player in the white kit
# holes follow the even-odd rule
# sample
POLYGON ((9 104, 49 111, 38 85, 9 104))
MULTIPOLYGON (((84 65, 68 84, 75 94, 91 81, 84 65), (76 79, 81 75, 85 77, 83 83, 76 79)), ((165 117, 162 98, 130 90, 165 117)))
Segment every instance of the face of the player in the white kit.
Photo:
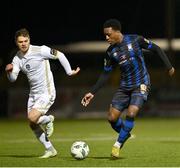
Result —
POLYGON ((30 39, 29 37, 19 36, 16 40, 16 45, 22 53, 26 53, 29 49, 30 39))

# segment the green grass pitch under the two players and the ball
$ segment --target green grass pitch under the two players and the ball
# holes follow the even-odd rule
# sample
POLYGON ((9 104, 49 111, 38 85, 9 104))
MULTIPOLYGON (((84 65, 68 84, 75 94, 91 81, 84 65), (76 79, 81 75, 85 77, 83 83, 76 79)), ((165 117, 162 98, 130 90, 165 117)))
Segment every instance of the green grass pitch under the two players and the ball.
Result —
POLYGON ((179 167, 180 119, 137 118, 121 157, 111 160, 117 134, 105 119, 55 120, 50 138, 57 157, 39 159, 44 147, 26 120, 0 120, 0 167, 179 167), (90 147, 85 160, 70 155, 71 144, 84 140, 90 147))

